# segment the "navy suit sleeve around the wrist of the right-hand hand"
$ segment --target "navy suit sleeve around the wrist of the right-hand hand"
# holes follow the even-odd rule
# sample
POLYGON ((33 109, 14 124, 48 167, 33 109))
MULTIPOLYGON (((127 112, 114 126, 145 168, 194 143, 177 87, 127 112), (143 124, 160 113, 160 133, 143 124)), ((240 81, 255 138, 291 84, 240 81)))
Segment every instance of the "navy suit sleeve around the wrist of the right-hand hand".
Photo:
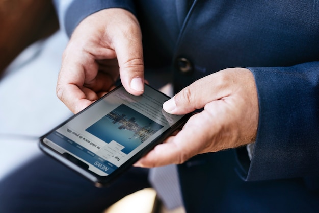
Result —
POLYGON ((319 62, 249 69, 257 86, 259 125, 250 164, 240 160, 248 165, 240 170, 242 177, 319 176, 319 62))

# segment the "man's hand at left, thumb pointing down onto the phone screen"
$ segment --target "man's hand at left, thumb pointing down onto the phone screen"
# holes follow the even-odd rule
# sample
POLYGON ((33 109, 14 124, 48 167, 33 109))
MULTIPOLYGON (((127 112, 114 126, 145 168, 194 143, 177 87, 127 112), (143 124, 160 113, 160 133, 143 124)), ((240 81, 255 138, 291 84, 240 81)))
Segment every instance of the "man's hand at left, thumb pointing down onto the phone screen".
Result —
POLYGON ((77 113, 114 87, 121 77, 131 94, 144 92, 142 34, 134 15, 110 8, 85 18, 63 53, 57 96, 77 113))

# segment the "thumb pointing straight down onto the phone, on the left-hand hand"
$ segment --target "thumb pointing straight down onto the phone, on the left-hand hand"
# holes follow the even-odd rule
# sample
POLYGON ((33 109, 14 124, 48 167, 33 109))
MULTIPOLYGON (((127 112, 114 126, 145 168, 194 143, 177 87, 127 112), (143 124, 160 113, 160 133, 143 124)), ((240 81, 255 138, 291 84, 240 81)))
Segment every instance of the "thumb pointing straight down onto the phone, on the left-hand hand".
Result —
POLYGON ((142 33, 137 19, 132 14, 130 25, 113 38, 113 45, 120 68, 121 82, 131 94, 144 92, 144 61, 142 33))

